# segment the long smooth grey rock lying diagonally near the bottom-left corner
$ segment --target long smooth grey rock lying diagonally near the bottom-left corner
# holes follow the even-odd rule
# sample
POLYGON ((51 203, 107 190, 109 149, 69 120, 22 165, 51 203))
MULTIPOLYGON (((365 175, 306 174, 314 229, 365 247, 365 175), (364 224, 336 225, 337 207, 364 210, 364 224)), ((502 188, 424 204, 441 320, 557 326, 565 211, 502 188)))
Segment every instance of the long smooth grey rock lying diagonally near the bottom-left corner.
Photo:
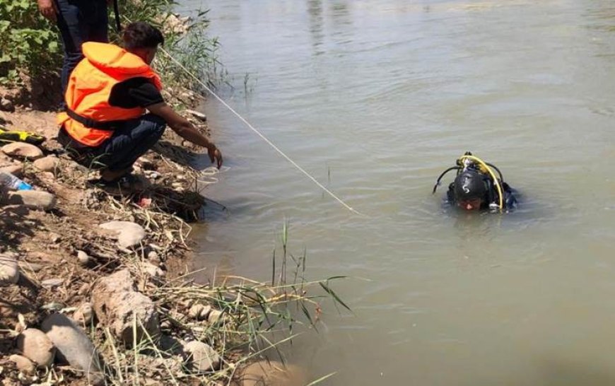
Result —
POLYGON ((86 373, 88 382, 94 386, 105 383, 98 351, 81 328, 62 314, 52 314, 41 324, 57 348, 57 359, 66 361, 76 370, 86 373))

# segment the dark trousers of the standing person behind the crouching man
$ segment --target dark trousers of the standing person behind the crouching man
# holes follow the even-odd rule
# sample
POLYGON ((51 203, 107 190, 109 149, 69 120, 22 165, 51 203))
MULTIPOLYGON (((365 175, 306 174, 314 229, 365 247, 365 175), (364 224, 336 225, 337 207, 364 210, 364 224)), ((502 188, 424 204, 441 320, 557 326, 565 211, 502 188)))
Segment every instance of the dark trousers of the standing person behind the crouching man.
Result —
POLYGON ((69 76, 83 59, 83 42, 108 42, 106 0, 54 0, 58 8, 57 25, 64 46, 62 64, 62 95, 69 83, 69 76))

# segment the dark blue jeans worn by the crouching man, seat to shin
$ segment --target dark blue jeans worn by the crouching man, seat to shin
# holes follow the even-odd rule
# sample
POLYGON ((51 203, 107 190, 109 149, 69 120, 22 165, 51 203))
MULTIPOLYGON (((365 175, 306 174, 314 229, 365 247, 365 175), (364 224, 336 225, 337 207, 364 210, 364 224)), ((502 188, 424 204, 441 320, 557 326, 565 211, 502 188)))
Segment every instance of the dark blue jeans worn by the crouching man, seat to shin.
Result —
POLYGON ((158 115, 146 114, 118 127, 113 136, 98 147, 79 144, 60 129, 58 141, 72 158, 87 168, 112 171, 129 169, 165 132, 166 122, 158 115))

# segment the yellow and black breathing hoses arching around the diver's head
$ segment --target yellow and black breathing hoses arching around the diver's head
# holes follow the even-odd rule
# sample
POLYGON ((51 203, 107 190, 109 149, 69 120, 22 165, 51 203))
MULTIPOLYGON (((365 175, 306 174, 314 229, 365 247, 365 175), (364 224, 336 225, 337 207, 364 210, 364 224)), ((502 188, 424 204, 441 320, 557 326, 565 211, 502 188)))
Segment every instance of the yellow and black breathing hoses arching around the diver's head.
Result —
POLYGON ((499 209, 500 211, 504 209, 504 190, 502 187, 504 178, 502 176, 502 172, 500 172, 500 170, 496 168, 495 165, 492 165, 491 163, 486 163, 484 162, 484 160, 481 160, 476 156, 472 156, 472 153, 470 153, 469 151, 464 153, 463 156, 457 158, 455 166, 448 168, 440 174, 438 180, 436 180, 435 182, 435 185, 433 185, 432 194, 435 194, 435 190, 438 189, 438 186, 440 186, 440 180, 442 180, 442 178, 447 174, 447 172, 450 172, 451 170, 457 170, 457 176, 461 175, 464 172, 479 172, 481 175, 485 175, 486 180, 489 184, 489 187, 487 189, 487 201, 489 204, 489 208, 499 209), (498 175, 500 177, 499 179, 492 169, 495 169, 496 172, 498 172, 498 175), (496 188, 497 197, 493 197, 494 194, 492 194, 493 189, 491 189, 491 187, 496 188))

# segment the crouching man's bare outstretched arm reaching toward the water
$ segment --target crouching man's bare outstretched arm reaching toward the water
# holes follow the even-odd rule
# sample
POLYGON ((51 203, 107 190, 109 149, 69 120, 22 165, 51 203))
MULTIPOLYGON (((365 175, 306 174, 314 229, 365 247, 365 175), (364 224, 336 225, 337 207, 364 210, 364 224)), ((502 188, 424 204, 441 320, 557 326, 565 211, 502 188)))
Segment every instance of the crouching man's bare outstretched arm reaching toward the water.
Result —
POLYGON ((188 121, 188 119, 177 114, 175 110, 164 102, 149 105, 147 110, 164 119, 169 127, 183 139, 190 141, 195 145, 207 148, 207 154, 209 155, 209 160, 211 160, 211 163, 215 162, 218 169, 222 166, 221 151, 219 151, 218 148, 216 148, 216 145, 209 141, 206 136, 199 133, 192 123, 188 121))

